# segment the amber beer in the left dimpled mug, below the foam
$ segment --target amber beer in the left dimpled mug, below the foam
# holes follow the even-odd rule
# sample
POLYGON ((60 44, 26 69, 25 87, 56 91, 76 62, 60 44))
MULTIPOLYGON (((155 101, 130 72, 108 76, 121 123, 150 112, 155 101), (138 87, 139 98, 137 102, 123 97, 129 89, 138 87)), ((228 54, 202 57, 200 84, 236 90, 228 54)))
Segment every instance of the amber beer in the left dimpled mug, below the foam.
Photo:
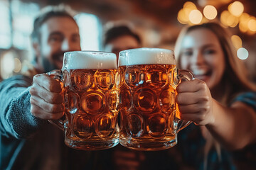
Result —
POLYGON ((117 69, 69 69, 65 85, 65 144, 98 150, 119 142, 117 69))

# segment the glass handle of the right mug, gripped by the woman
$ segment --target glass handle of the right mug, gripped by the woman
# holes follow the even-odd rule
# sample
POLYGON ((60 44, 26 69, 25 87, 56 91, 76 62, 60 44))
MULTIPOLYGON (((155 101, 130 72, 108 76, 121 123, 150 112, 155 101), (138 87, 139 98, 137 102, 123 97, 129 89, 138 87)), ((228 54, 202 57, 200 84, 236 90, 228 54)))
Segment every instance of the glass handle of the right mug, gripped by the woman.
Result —
MULTIPOLYGON (((177 69, 177 75, 178 75, 178 84, 181 83, 181 81, 190 81, 195 79, 195 76, 193 75, 193 72, 191 72, 188 69, 177 69)), ((180 118, 180 111, 178 110, 178 104, 176 103, 176 113, 175 113, 175 118, 177 119, 176 122, 176 130, 177 132, 183 130, 183 128, 186 128, 191 121, 188 120, 181 120, 180 118)))

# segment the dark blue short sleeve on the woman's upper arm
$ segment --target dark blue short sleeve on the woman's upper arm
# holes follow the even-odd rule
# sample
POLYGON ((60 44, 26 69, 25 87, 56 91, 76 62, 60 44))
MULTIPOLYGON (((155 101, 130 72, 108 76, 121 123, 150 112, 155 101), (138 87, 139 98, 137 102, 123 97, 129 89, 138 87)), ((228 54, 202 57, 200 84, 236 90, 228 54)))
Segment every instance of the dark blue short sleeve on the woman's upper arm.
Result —
POLYGON ((235 100, 235 101, 240 101, 242 103, 247 104, 248 106, 252 107, 256 111, 256 92, 247 92, 244 94, 240 94, 235 100))

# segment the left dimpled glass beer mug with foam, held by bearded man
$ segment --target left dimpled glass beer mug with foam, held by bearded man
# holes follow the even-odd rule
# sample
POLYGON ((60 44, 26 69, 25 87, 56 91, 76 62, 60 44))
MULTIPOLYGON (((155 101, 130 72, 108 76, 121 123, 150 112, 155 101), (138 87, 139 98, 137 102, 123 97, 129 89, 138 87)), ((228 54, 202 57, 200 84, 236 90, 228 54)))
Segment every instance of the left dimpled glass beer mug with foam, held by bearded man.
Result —
POLYGON ((65 52, 60 81, 64 85, 65 120, 50 120, 65 131, 65 145, 99 150, 119 142, 117 57, 110 52, 65 52))

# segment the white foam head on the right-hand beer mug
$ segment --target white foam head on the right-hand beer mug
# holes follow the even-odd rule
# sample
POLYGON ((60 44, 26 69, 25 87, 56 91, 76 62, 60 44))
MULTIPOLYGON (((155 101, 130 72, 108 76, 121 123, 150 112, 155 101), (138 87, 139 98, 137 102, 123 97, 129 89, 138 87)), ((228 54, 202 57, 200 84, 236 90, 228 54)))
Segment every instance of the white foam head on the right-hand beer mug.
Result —
POLYGON ((161 48, 136 48, 119 53, 119 66, 140 64, 175 64, 174 51, 161 48))

